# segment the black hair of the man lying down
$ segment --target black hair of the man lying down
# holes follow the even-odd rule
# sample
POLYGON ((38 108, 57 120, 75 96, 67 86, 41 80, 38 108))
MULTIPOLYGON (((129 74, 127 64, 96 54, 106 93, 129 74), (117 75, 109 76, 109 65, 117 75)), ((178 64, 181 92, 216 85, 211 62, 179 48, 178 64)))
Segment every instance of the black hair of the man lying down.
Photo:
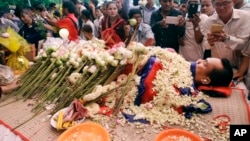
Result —
POLYGON ((209 78, 211 82, 210 86, 229 86, 233 78, 233 69, 228 59, 222 58, 221 63, 223 69, 213 69, 209 78))

